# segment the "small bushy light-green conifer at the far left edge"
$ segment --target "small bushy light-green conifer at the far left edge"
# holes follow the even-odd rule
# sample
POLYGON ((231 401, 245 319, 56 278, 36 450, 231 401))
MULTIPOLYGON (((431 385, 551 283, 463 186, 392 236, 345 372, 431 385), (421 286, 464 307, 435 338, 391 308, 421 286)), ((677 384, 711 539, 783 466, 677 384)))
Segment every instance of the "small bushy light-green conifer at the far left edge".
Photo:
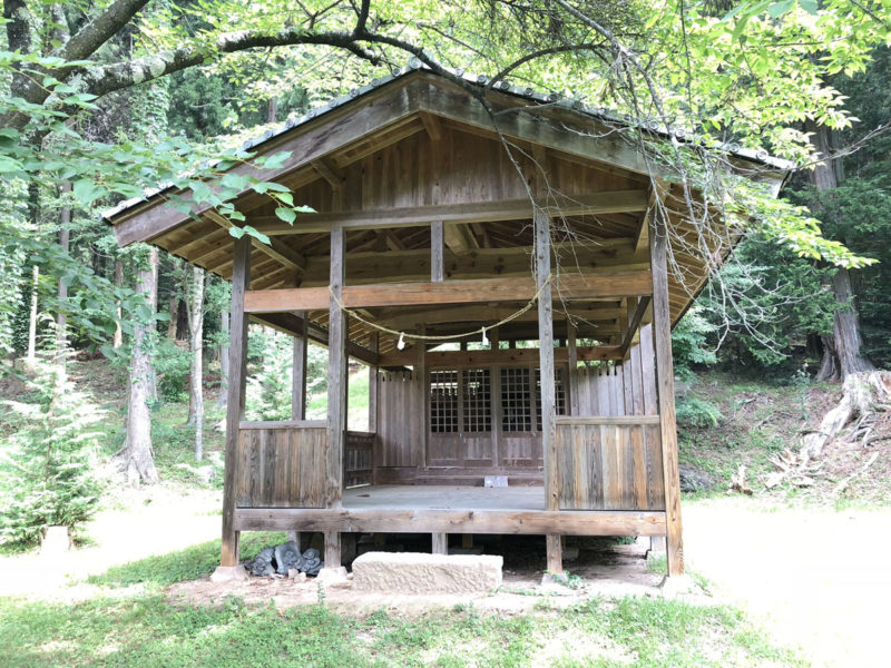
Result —
POLYGON ((77 528, 97 510, 100 414, 65 366, 40 360, 27 401, 2 401, 0 542, 30 544, 47 525, 77 528))

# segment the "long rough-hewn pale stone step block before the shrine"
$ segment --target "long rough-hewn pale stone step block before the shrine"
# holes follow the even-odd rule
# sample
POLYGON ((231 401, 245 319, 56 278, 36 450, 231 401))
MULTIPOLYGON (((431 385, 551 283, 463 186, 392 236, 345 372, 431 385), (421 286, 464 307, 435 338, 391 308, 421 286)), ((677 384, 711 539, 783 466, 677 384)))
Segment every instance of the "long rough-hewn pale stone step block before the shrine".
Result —
POLYGON ((501 557, 365 552, 353 561, 359 591, 388 593, 476 593, 501 586, 501 557))

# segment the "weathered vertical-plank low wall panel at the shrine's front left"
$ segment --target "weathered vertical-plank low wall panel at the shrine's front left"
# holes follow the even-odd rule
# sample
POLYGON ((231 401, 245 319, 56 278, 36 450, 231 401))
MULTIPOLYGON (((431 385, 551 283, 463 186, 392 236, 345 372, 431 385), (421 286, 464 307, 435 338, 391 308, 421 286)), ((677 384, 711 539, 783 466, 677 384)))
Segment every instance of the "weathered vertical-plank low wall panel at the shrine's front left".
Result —
POLYGON ((254 426, 238 431, 237 508, 325 508, 327 429, 254 426))

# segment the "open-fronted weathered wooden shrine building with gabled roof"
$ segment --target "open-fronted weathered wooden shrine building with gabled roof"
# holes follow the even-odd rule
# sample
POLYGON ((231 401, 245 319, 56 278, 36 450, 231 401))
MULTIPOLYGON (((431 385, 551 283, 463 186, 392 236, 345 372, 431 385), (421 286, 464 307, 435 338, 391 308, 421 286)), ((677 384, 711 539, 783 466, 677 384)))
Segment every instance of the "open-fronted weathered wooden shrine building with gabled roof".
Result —
POLYGON ((316 212, 292 225, 246 188, 268 245, 169 189, 106 215, 121 245, 232 281, 224 567, 242 531, 286 530, 324 532, 327 567, 349 532, 542 534, 552 572, 561 536, 664 536, 683 572, 670 328, 727 237, 702 238, 620 119, 487 84, 405 68, 253 143, 288 157, 232 171, 316 212), (248 320, 295 337, 290 421, 244 420, 248 320), (330 354, 324 421, 305 420, 307 341, 330 354), (369 432, 347 424, 350 357, 371 366, 369 432))

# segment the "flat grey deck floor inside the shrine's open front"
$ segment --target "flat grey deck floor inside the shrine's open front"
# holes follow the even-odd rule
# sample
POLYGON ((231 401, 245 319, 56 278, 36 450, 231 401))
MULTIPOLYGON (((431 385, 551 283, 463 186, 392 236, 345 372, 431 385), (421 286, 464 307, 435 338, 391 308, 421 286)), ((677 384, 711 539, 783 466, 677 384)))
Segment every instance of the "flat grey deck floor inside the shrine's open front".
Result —
POLYGON ((545 510, 540 487, 484 488, 470 485, 362 487, 343 492, 343 508, 371 510, 545 510))

